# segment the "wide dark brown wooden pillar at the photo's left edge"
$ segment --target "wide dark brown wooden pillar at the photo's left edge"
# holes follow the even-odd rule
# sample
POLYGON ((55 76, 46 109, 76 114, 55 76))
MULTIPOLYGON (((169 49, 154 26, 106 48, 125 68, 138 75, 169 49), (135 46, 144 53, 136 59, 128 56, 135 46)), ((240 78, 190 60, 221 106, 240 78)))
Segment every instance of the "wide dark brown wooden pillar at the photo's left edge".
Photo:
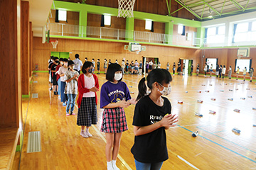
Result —
POLYGON ((20 1, 0 1, 0 127, 21 127, 20 1))

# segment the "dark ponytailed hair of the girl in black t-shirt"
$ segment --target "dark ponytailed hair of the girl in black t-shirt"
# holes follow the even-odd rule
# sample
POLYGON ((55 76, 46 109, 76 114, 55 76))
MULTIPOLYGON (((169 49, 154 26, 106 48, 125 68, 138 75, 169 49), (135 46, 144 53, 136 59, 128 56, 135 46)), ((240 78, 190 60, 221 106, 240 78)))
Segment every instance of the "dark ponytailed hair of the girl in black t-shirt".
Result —
POLYGON ((162 84, 163 82, 169 84, 171 81, 171 74, 166 69, 153 69, 151 72, 149 72, 149 75, 146 78, 144 77, 139 81, 139 94, 136 100, 139 101, 140 98, 146 96, 146 85, 149 87, 149 89, 152 89, 152 84, 154 84, 154 82, 158 82, 159 84, 162 84))

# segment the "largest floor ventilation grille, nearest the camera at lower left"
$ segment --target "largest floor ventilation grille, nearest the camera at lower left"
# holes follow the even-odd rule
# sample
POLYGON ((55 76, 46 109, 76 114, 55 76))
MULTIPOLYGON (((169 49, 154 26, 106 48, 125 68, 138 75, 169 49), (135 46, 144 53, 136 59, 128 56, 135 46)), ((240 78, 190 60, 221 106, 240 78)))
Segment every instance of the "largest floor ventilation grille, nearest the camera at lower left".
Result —
POLYGON ((27 153, 41 152, 41 135, 40 131, 28 132, 28 149, 27 153))

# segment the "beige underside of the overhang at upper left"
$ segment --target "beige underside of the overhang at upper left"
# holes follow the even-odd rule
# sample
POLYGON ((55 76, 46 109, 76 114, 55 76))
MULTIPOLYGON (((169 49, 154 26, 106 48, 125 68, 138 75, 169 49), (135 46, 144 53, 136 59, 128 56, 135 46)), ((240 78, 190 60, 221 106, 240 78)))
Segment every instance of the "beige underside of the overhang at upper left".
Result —
POLYGON ((50 13, 53 0, 28 0, 29 1, 29 21, 32 22, 34 37, 42 37, 43 27, 50 13))

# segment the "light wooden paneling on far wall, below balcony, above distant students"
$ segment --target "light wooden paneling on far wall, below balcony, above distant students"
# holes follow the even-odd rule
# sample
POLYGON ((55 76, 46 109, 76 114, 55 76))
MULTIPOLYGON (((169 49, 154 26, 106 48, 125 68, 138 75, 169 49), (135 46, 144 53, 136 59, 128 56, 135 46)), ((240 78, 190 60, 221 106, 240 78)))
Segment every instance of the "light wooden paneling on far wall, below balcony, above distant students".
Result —
MULTIPOLYGON (((80 55, 80 60, 85 61, 85 57, 89 61, 92 61, 92 58, 97 60, 100 58, 100 61, 106 58, 107 60, 112 60, 115 62, 117 59, 118 62, 122 62, 122 59, 125 60, 142 60, 142 56, 155 56, 159 57, 162 67, 166 67, 167 62, 170 64, 173 62, 178 62, 179 58, 193 58, 196 62, 200 62, 201 50, 195 49, 186 49, 181 47, 162 47, 159 45, 143 45, 146 46, 146 51, 142 51, 139 55, 136 52, 129 52, 124 50, 124 45, 127 45, 125 42, 105 42, 105 41, 94 41, 94 40, 69 40, 69 39, 58 39, 59 43, 55 51, 58 52, 72 52, 70 54, 71 60, 75 59, 75 54, 80 55)), ((33 61, 33 67, 36 62, 39 64, 39 70, 47 70, 47 61, 50 56, 50 51, 53 51, 51 45, 42 44, 41 38, 34 38, 34 54, 38 55, 33 61), (43 59, 38 59, 43 57, 43 59), (43 69, 42 69, 43 68, 43 69)), ((101 68, 102 69, 102 68, 101 68)))

